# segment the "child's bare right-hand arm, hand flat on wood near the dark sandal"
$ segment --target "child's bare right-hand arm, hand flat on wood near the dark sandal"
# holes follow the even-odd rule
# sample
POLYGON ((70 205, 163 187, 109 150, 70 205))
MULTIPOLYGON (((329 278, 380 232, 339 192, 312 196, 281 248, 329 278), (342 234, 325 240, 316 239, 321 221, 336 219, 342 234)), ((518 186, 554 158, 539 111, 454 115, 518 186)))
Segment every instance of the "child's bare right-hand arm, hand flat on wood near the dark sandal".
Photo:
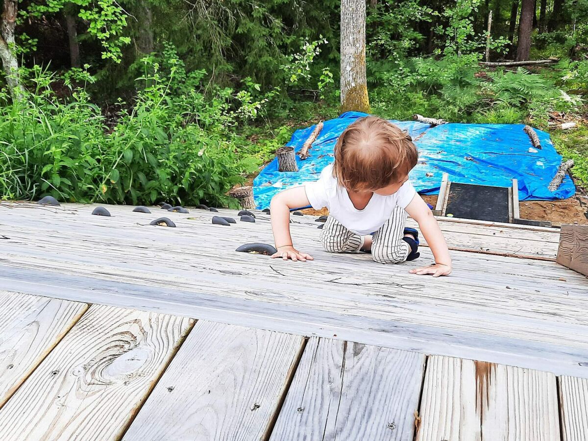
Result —
POLYGON ((433 277, 449 275, 451 273, 449 249, 447 249, 447 243, 445 242, 443 233, 429 206, 423 201, 423 198, 416 195, 409 205, 406 206, 406 211, 411 218, 419 223, 420 231, 425 236, 427 245, 429 245, 435 257, 435 265, 411 269, 410 272, 413 274, 432 274, 433 277))

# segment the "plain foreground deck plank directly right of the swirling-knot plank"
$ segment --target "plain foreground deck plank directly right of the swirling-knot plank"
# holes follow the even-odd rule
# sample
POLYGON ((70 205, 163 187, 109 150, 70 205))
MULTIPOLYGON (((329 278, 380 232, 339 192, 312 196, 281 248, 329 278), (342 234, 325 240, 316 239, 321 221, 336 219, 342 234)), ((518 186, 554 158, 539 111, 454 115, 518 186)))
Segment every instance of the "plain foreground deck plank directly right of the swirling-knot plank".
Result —
POLYGON ((265 439, 303 338, 199 321, 123 440, 265 439))

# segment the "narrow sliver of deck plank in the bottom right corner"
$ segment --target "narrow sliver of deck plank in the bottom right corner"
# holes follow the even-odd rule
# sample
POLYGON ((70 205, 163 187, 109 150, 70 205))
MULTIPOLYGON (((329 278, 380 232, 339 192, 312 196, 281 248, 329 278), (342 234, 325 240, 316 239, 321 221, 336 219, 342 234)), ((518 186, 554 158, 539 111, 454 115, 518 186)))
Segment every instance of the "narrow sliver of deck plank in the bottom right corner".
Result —
POLYGON ((588 440, 588 380, 559 378, 562 441, 588 440))

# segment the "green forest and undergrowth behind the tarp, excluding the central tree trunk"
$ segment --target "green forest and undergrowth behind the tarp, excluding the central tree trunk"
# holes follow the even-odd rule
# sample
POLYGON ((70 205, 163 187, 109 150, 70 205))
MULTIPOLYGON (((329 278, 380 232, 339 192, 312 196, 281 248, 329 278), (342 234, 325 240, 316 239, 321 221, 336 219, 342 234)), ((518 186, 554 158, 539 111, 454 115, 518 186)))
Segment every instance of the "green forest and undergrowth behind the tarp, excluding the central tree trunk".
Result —
MULTIPOLYGON (((4 0, 0 199, 233 205, 342 110, 346 2, 4 0)), ((588 0, 369 0, 357 19, 372 113, 544 129, 585 194, 588 0)))

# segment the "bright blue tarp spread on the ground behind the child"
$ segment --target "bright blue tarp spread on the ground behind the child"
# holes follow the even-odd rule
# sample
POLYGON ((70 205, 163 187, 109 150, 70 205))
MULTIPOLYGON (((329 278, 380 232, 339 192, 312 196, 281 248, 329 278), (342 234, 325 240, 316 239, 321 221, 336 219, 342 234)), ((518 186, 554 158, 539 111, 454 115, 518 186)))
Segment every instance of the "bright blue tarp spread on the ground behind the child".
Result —
MULTIPOLYGON (((310 157, 301 161, 298 172, 278 172, 274 159, 253 181, 253 194, 259 209, 269 208, 273 195, 293 186, 316 181, 323 168, 333 162, 333 148, 339 135, 357 118, 366 113, 345 112, 339 118, 325 121, 320 135, 310 149, 310 157)), ((576 188, 566 176, 555 192, 547 185, 562 162, 549 135, 537 130, 543 149, 534 149, 520 124, 457 124, 430 127, 414 121, 392 121, 408 131, 419 150, 419 163, 410 172, 410 179, 422 195, 436 195, 443 172, 449 180, 509 187, 512 179, 519 182, 519 200, 536 201, 567 199, 576 188)), ((312 133, 314 126, 297 130, 290 142, 296 152, 312 133)))

